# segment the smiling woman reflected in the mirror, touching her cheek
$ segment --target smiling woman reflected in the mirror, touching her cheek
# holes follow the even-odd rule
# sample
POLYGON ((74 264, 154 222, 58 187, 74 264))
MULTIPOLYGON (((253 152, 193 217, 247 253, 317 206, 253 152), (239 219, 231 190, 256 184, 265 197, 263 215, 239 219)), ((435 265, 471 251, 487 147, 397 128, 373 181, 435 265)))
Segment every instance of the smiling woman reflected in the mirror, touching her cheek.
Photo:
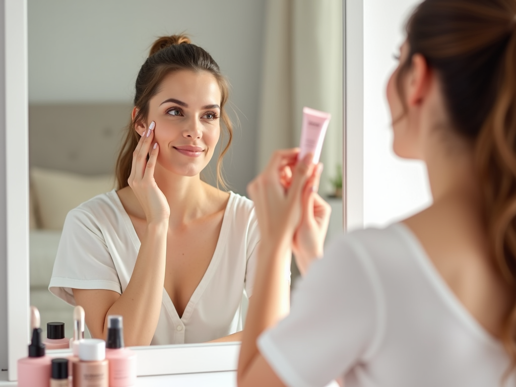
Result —
POLYGON ((253 204, 200 178, 222 120, 223 186, 228 89, 187 37, 153 44, 136 79, 118 190, 68 214, 50 283, 82 305, 93 337, 105 338, 107 316, 117 314, 126 345, 239 340, 260 239, 253 204))

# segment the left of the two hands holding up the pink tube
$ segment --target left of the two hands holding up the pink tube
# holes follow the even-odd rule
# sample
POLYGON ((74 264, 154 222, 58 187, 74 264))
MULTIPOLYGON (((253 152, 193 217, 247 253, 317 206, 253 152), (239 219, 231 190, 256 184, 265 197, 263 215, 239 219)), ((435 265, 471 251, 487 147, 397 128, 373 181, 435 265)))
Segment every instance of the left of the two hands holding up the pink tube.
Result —
POLYGON ((276 151, 265 170, 249 185, 262 236, 262 245, 292 243, 301 219, 301 201, 305 183, 312 175, 313 155, 297 163, 299 149, 276 151), (289 178, 292 171, 292 178, 289 178))

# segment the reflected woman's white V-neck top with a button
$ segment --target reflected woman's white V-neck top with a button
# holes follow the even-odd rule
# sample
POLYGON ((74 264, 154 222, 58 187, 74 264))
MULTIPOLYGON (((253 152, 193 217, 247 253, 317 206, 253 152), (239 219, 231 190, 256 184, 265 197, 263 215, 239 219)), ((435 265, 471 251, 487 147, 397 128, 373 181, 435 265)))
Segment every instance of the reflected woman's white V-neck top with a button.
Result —
MULTIPOLYGON (((230 192, 217 247, 204 277, 181 318, 163 288, 151 345, 199 343, 242 330, 259 240, 253 202, 230 192)), ((116 191, 96 196, 68 214, 49 289, 71 305, 75 305, 72 288, 122 294, 139 250, 140 240, 116 191)))

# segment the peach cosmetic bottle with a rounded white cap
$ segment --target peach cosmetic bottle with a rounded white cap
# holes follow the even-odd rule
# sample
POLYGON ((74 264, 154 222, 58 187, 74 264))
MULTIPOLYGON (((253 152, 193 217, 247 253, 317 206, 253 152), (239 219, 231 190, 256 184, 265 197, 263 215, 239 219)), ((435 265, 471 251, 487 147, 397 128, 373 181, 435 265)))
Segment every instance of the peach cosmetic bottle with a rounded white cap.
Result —
POLYGON ((73 363, 73 387, 108 387, 106 342, 86 338, 79 343, 79 361, 73 363))

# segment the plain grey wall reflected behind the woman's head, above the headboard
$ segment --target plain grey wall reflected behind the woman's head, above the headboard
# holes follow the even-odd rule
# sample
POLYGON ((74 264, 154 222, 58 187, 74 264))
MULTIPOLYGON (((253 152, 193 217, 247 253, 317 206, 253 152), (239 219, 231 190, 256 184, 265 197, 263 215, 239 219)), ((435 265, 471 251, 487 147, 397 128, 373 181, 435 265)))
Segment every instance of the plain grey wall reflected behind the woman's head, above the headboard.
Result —
POLYGON ((131 102, 155 38, 185 31, 232 84, 241 128, 224 168, 244 193, 256 172, 264 17, 264 0, 28 0, 29 102, 131 102))

